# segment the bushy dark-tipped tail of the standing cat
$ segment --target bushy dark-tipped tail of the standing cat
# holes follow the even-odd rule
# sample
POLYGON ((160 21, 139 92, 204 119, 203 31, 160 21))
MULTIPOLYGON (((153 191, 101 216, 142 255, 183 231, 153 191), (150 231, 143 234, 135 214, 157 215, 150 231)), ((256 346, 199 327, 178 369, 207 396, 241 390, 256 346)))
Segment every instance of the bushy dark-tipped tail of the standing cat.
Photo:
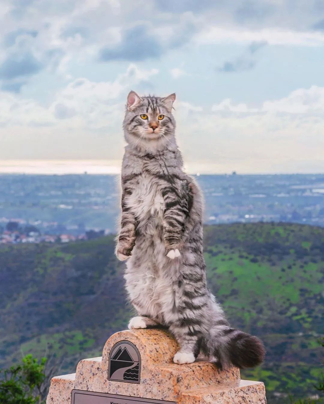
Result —
POLYGON ((265 358, 265 347, 259 338, 229 326, 212 327, 202 340, 201 350, 220 368, 253 368, 265 358))

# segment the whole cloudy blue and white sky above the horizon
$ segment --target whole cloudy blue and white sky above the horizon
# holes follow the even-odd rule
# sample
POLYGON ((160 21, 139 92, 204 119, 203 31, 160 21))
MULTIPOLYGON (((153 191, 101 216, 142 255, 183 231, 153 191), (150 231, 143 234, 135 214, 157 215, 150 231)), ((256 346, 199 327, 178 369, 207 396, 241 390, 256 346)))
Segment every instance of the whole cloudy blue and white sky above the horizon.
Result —
POLYGON ((0 0, 0 160, 118 162, 135 90, 193 171, 323 173, 323 71, 322 0, 0 0))

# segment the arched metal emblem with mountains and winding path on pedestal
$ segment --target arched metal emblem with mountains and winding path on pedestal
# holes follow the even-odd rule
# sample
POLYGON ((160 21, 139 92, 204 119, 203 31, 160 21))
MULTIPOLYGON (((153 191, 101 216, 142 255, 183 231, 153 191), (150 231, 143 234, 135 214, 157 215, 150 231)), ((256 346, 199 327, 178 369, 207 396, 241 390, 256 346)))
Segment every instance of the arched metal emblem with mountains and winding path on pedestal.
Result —
POLYGON ((141 355, 129 341, 116 343, 109 353, 108 380, 140 383, 141 355))

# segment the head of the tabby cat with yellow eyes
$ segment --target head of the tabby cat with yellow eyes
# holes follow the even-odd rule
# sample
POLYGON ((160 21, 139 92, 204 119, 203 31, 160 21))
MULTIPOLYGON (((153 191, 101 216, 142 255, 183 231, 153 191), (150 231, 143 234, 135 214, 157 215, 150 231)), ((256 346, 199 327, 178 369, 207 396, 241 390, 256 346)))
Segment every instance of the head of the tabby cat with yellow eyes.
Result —
POLYGON ((175 119, 172 105, 175 94, 168 97, 139 97, 130 91, 123 122, 126 142, 140 150, 160 151, 175 144, 175 119))

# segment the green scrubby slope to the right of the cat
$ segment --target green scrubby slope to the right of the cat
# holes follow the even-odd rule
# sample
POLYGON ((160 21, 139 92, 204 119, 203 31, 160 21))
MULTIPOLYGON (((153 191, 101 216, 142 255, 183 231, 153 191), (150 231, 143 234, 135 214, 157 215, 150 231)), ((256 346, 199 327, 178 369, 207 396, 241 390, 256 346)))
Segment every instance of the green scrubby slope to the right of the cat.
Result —
POLYGON ((265 364, 242 376, 274 391, 311 393, 320 372, 324 229, 206 227, 208 282, 231 322, 262 337, 265 364))

